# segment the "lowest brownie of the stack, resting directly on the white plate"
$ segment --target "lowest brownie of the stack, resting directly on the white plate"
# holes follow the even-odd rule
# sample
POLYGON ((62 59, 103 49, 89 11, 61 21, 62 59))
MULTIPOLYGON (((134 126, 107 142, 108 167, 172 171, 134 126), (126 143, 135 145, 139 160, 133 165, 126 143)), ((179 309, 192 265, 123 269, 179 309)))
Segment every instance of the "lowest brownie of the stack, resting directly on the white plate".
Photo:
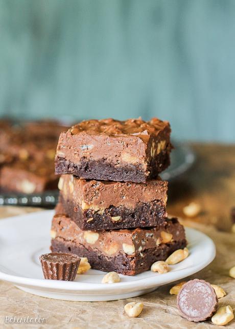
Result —
POLYGON ((66 215, 52 221, 52 252, 71 252, 87 257, 93 269, 135 275, 165 261, 175 250, 186 246, 185 233, 177 219, 143 229, 82 231, 66 215))

